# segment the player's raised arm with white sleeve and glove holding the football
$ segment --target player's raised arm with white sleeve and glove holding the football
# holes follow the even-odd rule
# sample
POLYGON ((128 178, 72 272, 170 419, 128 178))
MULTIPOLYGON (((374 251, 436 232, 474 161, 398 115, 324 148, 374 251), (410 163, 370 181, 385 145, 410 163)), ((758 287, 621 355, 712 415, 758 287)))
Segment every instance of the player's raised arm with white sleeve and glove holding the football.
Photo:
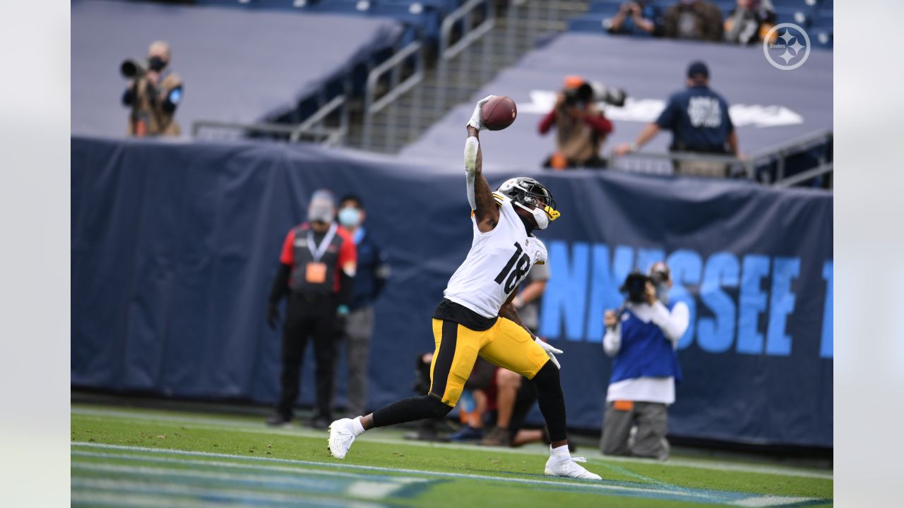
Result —
POLYGON ((471 203, 471 210, 475 213, 477 230, 482 233, 494 230, 499 222, 499 208, 496 206, 490 183, 484 177, 484 155, 480 150, 480 131, 485 128, 480 121, 480 108, 492 98, 492 95, 487 96, 477 102, 474 114, 467 122, 467 139, 465 141, 467 199, 471 203))

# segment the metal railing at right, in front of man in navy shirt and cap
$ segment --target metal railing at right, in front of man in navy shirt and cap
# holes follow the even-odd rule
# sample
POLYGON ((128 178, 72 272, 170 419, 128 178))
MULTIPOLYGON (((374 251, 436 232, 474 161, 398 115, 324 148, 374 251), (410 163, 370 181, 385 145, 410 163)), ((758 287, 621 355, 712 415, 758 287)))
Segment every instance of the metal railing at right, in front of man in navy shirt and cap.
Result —
POLYGON ((777 186, 790 186, 833 172, 833 164, 828 160, 828 150, 824 150, 817 160, 817 167, 789 177, 785 176, 789 157, 828 145, 832 142, 832 137, 831 131, 819 131, 779 146, 760 150, 744 158, 695 152, 633 152, 622 156, 609 155, 607 164, 610 169, 629 173, 744 177, 777 186), (770 178, 771 171, 759 171, 760 168, 770 168, 773 164, 775 164, 774 179, 770 178))

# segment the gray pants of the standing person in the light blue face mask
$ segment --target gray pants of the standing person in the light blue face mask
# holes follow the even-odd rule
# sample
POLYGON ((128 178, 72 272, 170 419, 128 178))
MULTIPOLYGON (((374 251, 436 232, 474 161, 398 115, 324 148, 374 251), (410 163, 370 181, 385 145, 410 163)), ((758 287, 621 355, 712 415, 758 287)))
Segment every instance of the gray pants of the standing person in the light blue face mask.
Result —
POLYGON ((364 415, 367 410, 367 365, 371 353, 373 307, 351 312, 345 321, 345 351, 348 358, 348 413, 364 415))

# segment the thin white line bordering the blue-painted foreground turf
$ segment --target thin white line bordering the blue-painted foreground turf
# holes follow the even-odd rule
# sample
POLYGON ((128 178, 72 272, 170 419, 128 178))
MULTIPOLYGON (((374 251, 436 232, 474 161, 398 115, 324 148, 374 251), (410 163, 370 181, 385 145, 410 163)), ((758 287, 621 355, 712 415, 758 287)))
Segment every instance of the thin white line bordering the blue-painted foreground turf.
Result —
MULTIPOLYGON (((144 456, 139 454, 151 454, 151 455, 173 455, 173 456, 193 456, 193 457, 211 457, 211 458, 226 458, 239 460, 244 462, 253 462, 255 464, 259 464, 261 466, 267 465, 268 467, 273 467, 274 465, 294 465, 294 466, 315 466, 315 467, 326 467, 331 469, 346 469, 346 470, 359 470, 359 471, 375 471, 381 473, 390 473, 390 474, 403 474, 403 475, 418 475, 418 476, 428 476, 428 477, 443 477, 443 478, 460 478, 460 479, 468 479, 468 480, 480 480, 480 481, 489 481, 489 482, 502 482, 502 483, 513 483, 513 484, 532 484, 532 485, 542 485, 542 486, 550 486, 555 488, 561 487, 570 487, 570 488, 578 488, 578 489, 586 489, 592 491, 601 491, 606 493, 618 494, 618 493, 634 493, 634 494, 649 494, 651 496, 655 495, 667 495, 674 497, 683 497, 687 498, 689 501, 698 500, 698 501, 710 501, 710 502, 722 502, 728 503, 729 500, 724 500, 716 497, 713 494, 707 494, 706 492, 693 492, 691 489, 681 489, 681 490, 672 490, 666 488, 646 488, 646 487, 636 487, 629 485, 611 485, 611 484, 595 484, 589 482, 575 481, 575 480, 566 480, 566 479, 558 479, 558 480, 541 480, 541 479, 530 479, 530 478, 517 478, 512 476, 493 476, 493 475, 469 475, 465 473, 447 473, 447 472, 435 472, 435 471, 420 471, 414 469, 405 469, 399 467, 384 467, 384 466, 361 466, 361 465, 353 465, 353 464, 337 464, 337 463, 329 463, 329 462, 317 462, 317 461, 308 461, 308 460, 297 460, 297 459, 284 459, 284 458, 270 458, 270 457, 261 457, 261 456, 240 456, 240 455, 231 455, 231 454, 219 454, 212 452, 195 452, 195 451, 185 451, 185 450, 172 450, 172 449, 160 449, 160 448, 148 448, 148 447, 130 447, 130 446, 122 446, 122 445, 108 445, 104 443, 86 443, 86 442, 73 442, 72 447, 75 448, 94 448, 94 449, 105 449, 111 451, 118 452, 132 452, 131 454, 110 454, 110 458, 126 457, 126 458, 136 458, 141 459, 144 456)), ((81 450, 76 450, 74 453, 77 455, 81 450)), ((98 454, 103 455, 103 454, 98 454)), ((187 462, 187 461, 186 461, 187 462)), ((203 461, 195 461, 195 462, 203 462, 203 461)), ((303 468, 305 472, 308 472, 308 468, 303 468)), ((758 496, 760 497, 760 496, 758 496)), ((746 498, 745 498, 746 499, 746 498)), ((781 503, 802 503, 805 501, 812 501, 814 498, 805 498, 805 497, 796 497, 796 498, 782 498, 781 503), (788 501, 788 499, 793 499, 793 501, 788 501)), ((768 505, 768 504, 766 504, 768 505)))

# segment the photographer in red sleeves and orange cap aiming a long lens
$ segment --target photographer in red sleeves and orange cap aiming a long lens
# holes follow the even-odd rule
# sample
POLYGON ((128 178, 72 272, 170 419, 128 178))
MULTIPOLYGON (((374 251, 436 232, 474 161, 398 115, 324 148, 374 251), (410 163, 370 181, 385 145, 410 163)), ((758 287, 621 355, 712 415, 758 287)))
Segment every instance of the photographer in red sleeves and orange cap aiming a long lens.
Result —
POLYGON ((579 76, 565 78, 565 87, 559 92, 555 108, 540 122, 541 135, 549 132, 552 126, 558 129, 556 152, 546 159, 543 167, 561 170, 606 166, 606 160, 599 156, 599 149, 612 132, 612 123, 597 107, 598 101, 621 106, 625 103, 625 92, 606 89, 579 76))

